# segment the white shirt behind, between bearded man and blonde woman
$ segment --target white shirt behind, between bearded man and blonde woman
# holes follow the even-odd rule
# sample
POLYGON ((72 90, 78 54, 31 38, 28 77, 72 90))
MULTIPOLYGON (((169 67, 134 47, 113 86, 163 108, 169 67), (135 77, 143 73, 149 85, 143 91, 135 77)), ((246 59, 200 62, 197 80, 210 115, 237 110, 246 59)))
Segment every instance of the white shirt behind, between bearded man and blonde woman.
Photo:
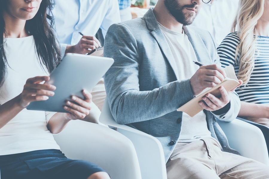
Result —
POLYGON ((204 4, 191 25, 209 31, 218 47, 231 32, 238 6, 239 0, 214 0, 212 4, 204 4))

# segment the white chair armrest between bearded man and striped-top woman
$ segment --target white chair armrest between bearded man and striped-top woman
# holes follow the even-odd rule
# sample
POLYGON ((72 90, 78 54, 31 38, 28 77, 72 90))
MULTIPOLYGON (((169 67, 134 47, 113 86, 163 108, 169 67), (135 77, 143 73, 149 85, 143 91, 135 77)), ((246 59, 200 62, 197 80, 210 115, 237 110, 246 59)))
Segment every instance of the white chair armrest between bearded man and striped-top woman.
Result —
POLYGON ((269 165, 265 138, 258 127, 239 119, 232 122, 219 120, 217 122, 227 136, 231 148, 237 150, 244 157, 269 165))

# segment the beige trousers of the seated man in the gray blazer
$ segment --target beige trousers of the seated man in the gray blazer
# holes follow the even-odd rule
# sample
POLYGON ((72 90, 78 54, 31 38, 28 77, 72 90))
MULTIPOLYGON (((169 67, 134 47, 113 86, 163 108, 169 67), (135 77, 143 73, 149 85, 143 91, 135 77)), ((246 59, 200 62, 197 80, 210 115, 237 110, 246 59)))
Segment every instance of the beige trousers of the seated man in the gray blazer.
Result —
POLYGON ((166 164, 168 179, 268 179, 269 166, 239 155, 222 152, 206 138, 178 143, 166 164))

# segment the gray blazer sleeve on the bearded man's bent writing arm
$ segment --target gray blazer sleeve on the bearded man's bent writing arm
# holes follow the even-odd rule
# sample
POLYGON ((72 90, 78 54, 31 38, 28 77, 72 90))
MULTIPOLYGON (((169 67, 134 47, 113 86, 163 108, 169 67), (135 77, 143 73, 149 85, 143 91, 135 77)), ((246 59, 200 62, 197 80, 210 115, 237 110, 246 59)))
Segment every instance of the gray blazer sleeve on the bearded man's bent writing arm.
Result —
POLYGON ((111 113, 119 124, 161 117, 194 98, 189 79, 174 81, 152 91, 140 91, 139 62, 144 55, 140 54, 138 43, 128 27, 124 24, 109 27, 104 57, 111 57, 115 62, 104 80, 111 113))

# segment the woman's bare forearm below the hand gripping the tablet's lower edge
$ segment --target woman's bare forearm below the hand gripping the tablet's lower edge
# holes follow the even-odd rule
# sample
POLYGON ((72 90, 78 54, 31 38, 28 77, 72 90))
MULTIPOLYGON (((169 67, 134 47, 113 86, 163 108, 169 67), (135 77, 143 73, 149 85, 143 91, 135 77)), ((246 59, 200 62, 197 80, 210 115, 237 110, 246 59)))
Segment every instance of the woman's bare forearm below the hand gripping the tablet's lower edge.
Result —
POLYGON ((66 127, 70 119, 67 119, 65 113, 55 113, 48 121, 48 130, 53 134, 58 134, 66 127))

